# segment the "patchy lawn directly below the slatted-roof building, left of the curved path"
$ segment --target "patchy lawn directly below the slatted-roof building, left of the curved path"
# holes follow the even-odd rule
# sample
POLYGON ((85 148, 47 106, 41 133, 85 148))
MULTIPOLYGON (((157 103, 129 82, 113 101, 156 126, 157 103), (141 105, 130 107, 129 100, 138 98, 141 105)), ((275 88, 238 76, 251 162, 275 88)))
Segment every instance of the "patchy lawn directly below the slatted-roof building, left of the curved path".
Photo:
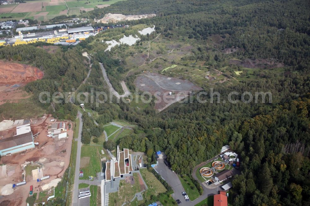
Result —
POLYGON ((135 193, 140 191, 139 174, 134 173, 133 178, 135 183, 131 185, 121 180, 119 183, 119 190, 109 194, 109 206, 122 205, 126 201, 130 201, 135 193))

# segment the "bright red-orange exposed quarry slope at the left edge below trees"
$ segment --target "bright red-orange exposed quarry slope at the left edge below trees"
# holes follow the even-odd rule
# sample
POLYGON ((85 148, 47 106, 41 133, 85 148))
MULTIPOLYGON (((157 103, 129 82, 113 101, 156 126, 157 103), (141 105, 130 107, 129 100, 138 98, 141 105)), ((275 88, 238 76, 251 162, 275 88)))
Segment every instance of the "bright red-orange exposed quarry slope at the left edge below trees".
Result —
POLYGON ((37 67, 0 60, 0 86, 32 82, 43 75, 37 67))

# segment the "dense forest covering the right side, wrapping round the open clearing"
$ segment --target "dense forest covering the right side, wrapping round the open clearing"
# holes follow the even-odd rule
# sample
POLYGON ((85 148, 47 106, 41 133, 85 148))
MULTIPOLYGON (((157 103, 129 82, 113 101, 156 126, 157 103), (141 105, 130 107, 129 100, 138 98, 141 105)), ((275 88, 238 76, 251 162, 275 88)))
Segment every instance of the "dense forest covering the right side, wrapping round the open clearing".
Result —
MULTIPOLYGON (((154 151, 164 150, 173 170, 180 174, 191 174, 194 166, 229 144, 241 155, 242 162, 241 175, 233 181, 233 205, 307 205, 310 201, 309 6, 308 1, 298 0, 126 1, 83 14, 100 18, 108 12, 155 13, 157 17, 152 19, 124 23, 154 24, 159 28, 157 32, 164 34, 175 27, 183 28, 187 31, 184 38, 197 40, 225 34, 213 51, 241 48, 232 55, 238 59, 283 62, 286 71, 290 71, 287 75, 247 79, 215 88, 221 99, 232 91, 270 91, 271 104, 194 101, 172 105, 157 115, 146 110, 138 114, 120 104, 123 112, 119 118, 138 123, 147 134, 126 136, 120 144, 134 151, 145 151, 150 161, 154 160, 154 151)), ((201 45, 191 60, 208 60, 208 52, 210 48, 201 45)))

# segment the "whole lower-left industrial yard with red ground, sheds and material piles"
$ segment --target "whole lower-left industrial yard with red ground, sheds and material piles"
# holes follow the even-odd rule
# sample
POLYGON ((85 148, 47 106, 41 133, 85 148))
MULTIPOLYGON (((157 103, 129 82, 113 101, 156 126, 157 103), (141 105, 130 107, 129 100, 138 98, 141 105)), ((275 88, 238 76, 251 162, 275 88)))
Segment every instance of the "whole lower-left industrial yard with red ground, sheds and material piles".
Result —
MULTIPOLYGON (((53 119, 50 115, 44 115, 38 119, 18 120, 16 123, 17 127, 14 127, 14 123, 16 122, 14 121, 11 126, 9 124, 4 125, 8 126, 9 129, 0 131, 1 141, 7 142, 5 145, 13 146, 7 149, 12 151, 12 154, 1 157, 0 161, 0 192, 3 195, 1 198, 2 204, 22 205, 29 196, 29 187, 31 185, 33 185, 34 193, 39 194, 45 191, 46 197, 54 195, 52 188, 57 186, 69 166, 73 125, 71 122, 51 121, 53 119), (61 127, 53 128, 55 125, 61 127), (19 151, 20 147, 12 145, 10 139, 16 139, 20 135, 13 135, 28 132, 30 128, 31 132, 29 134, 32 133, 31 135, 34 136, 33 144, 31 143, 32 145, 28 149, 25 148, 26 150, 19 151), (14 154, 14 152, 17 153, 14 154), (40 181, 41 179, 42 181, 40 181), (13 184, 18 185, 17 183, 21 182, 26 182, 26 184, 17 186, 14 189, 12 188, 13 184)), ((22 139, 19 140, 19 143, 22 143, 21 141, 22 139)), ((18 145, 17 142, 16 144, 18 145)), ((2 147, 1 152, 5 152, 2 147)), ((36 201, 42 202, 46 200, 43 198, 37 199, 36 201)))

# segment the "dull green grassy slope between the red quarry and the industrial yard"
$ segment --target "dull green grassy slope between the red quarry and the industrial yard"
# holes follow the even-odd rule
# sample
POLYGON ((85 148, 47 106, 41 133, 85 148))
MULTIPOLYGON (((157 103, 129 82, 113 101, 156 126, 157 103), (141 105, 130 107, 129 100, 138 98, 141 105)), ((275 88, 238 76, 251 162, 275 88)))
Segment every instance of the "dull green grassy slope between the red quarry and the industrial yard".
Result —
POLYGON ((31 98, 23 99, 17 103, 5 103, 0 105, 1 117, 4 119, 30 119, 42 117, 46 112, 42 107, 35 104, 31 98), (31 105, 31 107, 29 107, 31 105))

